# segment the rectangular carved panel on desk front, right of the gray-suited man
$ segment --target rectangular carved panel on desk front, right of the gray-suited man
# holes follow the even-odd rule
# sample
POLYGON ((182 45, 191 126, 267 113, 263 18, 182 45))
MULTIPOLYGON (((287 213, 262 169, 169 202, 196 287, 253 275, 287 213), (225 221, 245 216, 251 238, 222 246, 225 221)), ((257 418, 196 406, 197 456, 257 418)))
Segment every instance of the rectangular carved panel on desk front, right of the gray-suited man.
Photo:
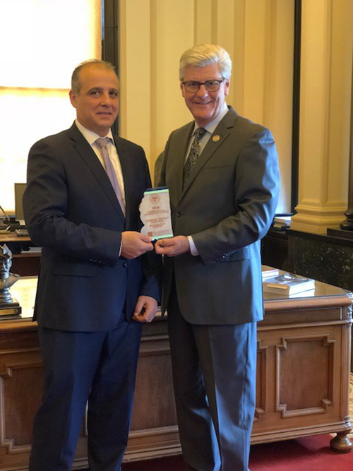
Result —
POLYGON ((277 411, 282 417, 325 413, 333 403, 330 335, 283 337, 277 345, 277 411))

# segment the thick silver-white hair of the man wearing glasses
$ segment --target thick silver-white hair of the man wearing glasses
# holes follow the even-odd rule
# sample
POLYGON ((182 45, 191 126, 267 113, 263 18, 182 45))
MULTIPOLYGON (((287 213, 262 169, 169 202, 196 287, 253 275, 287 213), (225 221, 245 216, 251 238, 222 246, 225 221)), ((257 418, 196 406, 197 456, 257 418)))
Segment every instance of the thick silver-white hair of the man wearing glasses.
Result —
POLYGON ((200 44, 182 54, 179 61, 179 79, 183 80, 186 67, 205 67, 218 64, 222 78, 227 80, 232 73, 232 59, 223 47, 217 44, 200 44))

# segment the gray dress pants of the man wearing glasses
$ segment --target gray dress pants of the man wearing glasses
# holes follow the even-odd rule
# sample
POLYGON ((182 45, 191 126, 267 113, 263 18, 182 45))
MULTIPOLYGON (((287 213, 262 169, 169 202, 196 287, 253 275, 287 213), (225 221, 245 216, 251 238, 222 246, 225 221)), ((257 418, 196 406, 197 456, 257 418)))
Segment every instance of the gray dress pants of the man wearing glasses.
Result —
POLYGON ((256 400, 256 323, 185 321, 175 292, 168 306, 181 448, 196 471, 246 471, 256 400))

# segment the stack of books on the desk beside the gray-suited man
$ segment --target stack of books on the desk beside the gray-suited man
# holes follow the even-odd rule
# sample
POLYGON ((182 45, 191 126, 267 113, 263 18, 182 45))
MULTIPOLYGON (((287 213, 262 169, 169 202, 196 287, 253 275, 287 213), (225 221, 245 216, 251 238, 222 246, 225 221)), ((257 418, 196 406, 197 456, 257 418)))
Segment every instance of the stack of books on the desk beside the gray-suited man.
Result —
POLYGON ((283 294, 284 296, 292 296, 314 290, 315 280, 305 278, 292 273, 284 273, 271 278, 263 278, 263 291, 268 293, 283 294))

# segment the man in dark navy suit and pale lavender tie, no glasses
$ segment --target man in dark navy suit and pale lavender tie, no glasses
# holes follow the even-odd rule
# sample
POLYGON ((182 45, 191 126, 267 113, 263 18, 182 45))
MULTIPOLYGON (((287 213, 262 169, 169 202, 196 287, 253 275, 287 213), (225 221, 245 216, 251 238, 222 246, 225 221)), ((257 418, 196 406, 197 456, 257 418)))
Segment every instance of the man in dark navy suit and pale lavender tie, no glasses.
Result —
POLYGON ((45 376, 30 471, 71 470, 87 402, 90 471, 119 471, 141 323, 159 298, 158 259, 138 210, 150 175, 143 149, 112 135, 112 64, 80 64, 70 100, 77 119, 33 145, 23 196, 42 246, 35 318, 45 376))

